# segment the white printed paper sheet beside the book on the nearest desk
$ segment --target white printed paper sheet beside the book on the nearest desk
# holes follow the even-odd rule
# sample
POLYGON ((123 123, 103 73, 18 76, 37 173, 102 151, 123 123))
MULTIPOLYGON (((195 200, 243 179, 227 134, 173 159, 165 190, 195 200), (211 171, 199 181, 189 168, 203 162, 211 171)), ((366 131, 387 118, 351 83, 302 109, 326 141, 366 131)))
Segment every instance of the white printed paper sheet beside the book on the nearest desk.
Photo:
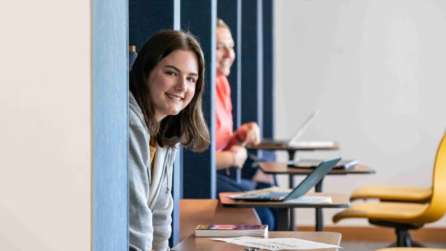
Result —
POLYGON ((324 248, 341 248, 337 245, 307 241, 299 238, 256 238, 256 237, 237 237, 237 238, 212 238, 215 241, 224 241, 236 245, 242 245, 250 248, 261 248, 266 250, 312 250, 324 248))

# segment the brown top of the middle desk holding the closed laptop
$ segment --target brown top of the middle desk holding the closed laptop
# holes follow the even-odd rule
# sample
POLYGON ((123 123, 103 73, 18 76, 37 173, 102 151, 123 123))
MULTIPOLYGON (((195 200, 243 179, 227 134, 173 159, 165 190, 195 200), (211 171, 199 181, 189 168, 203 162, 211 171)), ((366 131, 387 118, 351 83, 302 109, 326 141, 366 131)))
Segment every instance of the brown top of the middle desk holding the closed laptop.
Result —
MULTIPOLYGON (((266 174, 294 174, 305 175, 313 172, 313 168, 288 167, 287 162, 259 162, 259 166, 266 174)), ((375 170, 367 165, 358 164, 350 169, 332 169, 328 174, 374 174, 375 170)))

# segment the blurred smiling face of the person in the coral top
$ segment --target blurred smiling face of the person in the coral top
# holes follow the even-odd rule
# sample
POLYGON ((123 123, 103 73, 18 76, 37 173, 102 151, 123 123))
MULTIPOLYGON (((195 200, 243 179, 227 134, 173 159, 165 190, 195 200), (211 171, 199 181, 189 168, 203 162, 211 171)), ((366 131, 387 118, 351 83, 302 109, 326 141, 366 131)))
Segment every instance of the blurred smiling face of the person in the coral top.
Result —
POLYGON ((234 40, 231 31, 224 27, 217 27, 217 73, 229 76, 231 66, 236 58, 234 40))

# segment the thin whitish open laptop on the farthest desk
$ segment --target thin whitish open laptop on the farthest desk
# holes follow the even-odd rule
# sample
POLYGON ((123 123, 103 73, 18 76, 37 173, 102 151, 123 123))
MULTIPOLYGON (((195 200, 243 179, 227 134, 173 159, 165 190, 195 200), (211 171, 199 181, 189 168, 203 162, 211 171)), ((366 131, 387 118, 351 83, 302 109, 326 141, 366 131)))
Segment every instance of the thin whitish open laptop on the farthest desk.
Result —
POLYGON ((318 147, 332 147, 335 146, 335 142, 330 140, 325 141, 298 141, 300 135, 308 128, 308 126, 314 121, 314 118, 319 114, 319 110, 316 109, 314 112, 309 114, 307 119, 305 119, 304 123, 300 126, 300 128, 294 133, 291 139, 287 140, 277 140, 277 139, 262 139, 260 145, 263 146, 291 146, 291 147, 309 147, 309 148, 318 148, 318 147))

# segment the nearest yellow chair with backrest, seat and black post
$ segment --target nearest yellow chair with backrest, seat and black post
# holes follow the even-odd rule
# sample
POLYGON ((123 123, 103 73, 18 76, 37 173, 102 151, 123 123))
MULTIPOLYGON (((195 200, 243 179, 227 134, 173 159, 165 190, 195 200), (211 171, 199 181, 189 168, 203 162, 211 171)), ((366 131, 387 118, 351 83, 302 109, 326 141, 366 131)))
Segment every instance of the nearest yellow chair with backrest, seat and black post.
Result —
POLYGON ((432 196, 429 204, 403 202, 375 202, 355 204, 333 216, 333 222, 344 218, 368 218, 374 225, 394 227, 397 246, 410 247, 408 229, 435 222, 446 212, 446 135, 441 139, 433 167, 432 196))

